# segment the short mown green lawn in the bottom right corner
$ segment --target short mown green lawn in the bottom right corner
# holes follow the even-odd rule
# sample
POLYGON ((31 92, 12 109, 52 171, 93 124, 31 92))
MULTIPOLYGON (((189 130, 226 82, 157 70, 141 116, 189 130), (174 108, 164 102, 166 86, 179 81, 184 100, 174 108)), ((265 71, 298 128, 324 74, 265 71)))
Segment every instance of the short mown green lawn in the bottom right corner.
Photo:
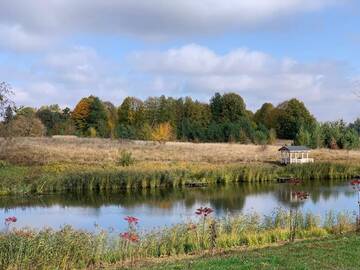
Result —
POLYGON ((148 269, 360 269, 360 235, 307 240, 278 247, 156 265, 148 269))

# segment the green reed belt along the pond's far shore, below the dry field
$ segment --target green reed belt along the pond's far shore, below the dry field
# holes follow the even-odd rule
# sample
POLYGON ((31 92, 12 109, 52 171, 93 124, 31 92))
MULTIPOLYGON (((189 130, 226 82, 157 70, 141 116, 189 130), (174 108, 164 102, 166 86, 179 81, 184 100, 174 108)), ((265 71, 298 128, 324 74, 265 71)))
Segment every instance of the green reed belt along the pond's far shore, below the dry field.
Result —
POLYGON ((0 194, 116 192, 123 189, 184 187, 230 182, 301 179, 350 179, 360 166, 335 163, 271 164, 142 163, 130 167, 89 165, 14 166, 0 168, 0 194))

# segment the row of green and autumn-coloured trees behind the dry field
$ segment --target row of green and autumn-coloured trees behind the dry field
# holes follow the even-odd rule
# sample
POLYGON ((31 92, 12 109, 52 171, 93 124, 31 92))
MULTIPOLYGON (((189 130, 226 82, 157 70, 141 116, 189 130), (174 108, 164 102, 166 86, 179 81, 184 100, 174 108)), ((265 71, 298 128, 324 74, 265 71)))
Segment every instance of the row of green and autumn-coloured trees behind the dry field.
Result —
MULTIPOLYGON (((5 91, 7 90, 7 91, 5 91)), ((271 144, 293 140, 312 148, 360 147, 360 118, 318 122, 303 102, 290 99, 274 106, 263 104, 255 113, 236 93, 215 93, 208 103, 191 97, 126 97, 119 107, 96 96, 82 98, 75 108, 58 105, 16 107, 0 88, 0 136, 121 138, 156 141, 238 142, 271 144), (3 101, 3 102, 1 102, 3 101), (5 102, 6 101, 6 102, 5 102)))

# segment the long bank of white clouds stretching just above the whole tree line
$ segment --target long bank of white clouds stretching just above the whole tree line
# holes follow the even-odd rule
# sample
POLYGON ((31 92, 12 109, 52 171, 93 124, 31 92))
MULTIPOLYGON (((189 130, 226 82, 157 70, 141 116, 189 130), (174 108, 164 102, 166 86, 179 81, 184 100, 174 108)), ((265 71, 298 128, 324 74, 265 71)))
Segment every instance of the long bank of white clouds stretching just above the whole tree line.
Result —
POLYGON ((125 63, 114 63, 92 48, 75 47, 47 53, 27 69, 0 66, 0 78, 9 75, 18 105, 74 106, 90 94, 116 105, 127 95, 190 95, 208 101, 215 91, 234 91, 252 110, 264 102, 296 97, 320 120, 350 121, 360 115, 360 106, 351 92, 349 69, 341 62, 301 63, 246 48, 218 54, 189 44, 135 52, 125 63))

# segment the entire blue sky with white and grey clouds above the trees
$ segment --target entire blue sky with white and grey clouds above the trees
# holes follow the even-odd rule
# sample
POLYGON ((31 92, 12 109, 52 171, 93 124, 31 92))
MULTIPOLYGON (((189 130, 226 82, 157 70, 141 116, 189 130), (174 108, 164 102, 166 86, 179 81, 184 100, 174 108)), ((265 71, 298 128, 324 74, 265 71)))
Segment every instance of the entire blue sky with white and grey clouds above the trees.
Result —
POLYGON ((90 94, 249 109, 302 99, 322 121, 360 116, 358 0, 0 0, 0 81, 20 105, 90 94))

